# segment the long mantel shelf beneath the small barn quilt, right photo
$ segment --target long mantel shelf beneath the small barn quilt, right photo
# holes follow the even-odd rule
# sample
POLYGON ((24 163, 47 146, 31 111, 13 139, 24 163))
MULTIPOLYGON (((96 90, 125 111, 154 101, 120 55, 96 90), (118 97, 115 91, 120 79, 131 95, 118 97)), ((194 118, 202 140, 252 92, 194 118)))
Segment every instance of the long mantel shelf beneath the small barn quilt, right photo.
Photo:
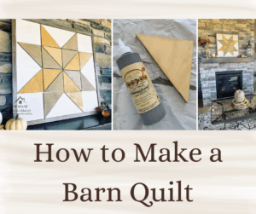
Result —
POLYGON ((254 57, 245 57, 245 58, 238 58, 238 57, 218 57, 218 58, 200 58, 199 62, 201 63, 247 63, 255 61, 254 57))

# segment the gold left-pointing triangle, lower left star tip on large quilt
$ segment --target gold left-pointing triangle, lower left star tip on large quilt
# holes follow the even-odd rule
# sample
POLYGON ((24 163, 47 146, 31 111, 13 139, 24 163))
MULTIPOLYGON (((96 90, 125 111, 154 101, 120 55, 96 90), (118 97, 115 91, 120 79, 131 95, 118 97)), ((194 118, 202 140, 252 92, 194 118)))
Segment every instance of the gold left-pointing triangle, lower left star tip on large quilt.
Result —
POLYGON ((20 91, 18 94, 44 92, 43 71, 40 70, 20 91))

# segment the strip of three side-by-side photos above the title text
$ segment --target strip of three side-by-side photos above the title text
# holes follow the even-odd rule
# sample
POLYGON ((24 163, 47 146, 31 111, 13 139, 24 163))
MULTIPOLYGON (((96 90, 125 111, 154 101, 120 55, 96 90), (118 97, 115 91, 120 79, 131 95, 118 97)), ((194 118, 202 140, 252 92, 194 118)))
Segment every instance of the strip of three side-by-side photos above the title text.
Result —
POLYGON ((0 130, 256 130, 253 19, 0 23, 0 130))

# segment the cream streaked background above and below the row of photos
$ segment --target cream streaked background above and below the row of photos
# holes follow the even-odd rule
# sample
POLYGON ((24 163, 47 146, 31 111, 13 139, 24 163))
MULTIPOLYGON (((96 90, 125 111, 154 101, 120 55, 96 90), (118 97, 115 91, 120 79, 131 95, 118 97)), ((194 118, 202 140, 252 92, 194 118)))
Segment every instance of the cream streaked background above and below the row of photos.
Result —
MULTIPOLYGON (((1 0, 0 17, 7 18, 255 18, 253 0, 180 1, 18 1, 1 0)), ((0 132, 0 213, 178 213, 254 214, 256 210, 256 134, 253 131, 55 131, 0 132), (158 142, 170 147, 199 147, 200 163, 133 163, 133 142, 158 142), (33 143, 55 147, 94 147, 90 162, 34 163, 33 143), (103 164, 98 148, 121 147, 122 163, 103 164), (212 147, 223 152, 223 163, 208 161, 212 147), (182 180, 194 190, 195 202, 154 203, 147 208, 131 200, 130 188, 144 182, 169 188, 182 180), (79 188, 117 187, 123 202, 64 203, 62 182, 79 188)))

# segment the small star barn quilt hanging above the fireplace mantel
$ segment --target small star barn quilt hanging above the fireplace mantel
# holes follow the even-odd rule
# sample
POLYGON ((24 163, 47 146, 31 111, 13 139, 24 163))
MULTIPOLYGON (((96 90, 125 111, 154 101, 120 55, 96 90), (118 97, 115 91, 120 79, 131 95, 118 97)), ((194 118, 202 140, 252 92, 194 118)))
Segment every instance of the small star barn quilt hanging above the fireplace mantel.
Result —
POLYGON ((220 57, 236 57, 239 55, 238 35, 216 34, 217 54, 220 57))

